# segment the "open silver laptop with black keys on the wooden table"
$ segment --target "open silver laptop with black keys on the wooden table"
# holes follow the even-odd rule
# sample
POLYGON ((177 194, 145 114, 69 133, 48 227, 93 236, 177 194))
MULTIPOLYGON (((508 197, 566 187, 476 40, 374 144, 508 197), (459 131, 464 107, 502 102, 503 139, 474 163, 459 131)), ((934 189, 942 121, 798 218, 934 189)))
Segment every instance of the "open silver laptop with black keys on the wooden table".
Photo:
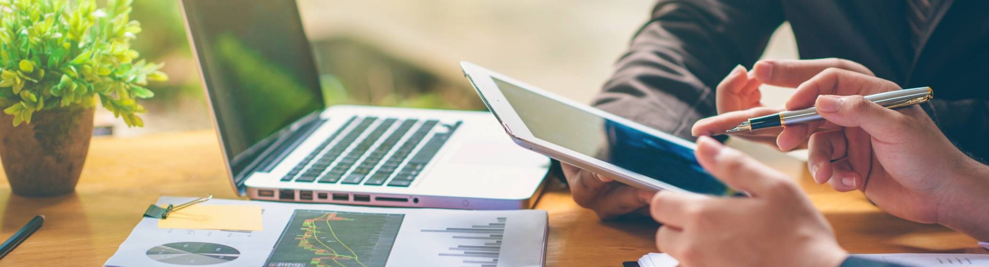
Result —
POLYGON ((515 145, 490 113, 326 107, 294 0, 180 4, 241 196, 471 210, 538 199, 549 158, 515 145))

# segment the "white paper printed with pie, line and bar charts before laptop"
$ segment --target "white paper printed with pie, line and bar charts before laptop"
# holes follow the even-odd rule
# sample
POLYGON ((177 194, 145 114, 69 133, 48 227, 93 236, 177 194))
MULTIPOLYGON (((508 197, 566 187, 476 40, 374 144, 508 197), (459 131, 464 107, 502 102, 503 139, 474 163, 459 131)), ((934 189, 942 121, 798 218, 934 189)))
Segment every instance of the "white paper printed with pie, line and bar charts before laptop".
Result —
MULTIPOLYGON (((162 197, 159 205, 191 198, 162 197)), ((145 218, 106 266, 543 266, 544 211, 260 205, 263 230, 159 228, 145 218)))

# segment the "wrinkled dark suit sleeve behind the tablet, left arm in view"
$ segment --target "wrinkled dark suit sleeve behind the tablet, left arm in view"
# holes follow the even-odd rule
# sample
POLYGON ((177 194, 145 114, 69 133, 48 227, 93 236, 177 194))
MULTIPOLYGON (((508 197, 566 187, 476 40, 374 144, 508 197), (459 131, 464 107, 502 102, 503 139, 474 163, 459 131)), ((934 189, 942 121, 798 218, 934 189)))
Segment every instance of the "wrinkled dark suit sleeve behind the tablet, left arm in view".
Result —
POLYGON ((783 20, 778 0, 661 0, 594 106, 693 139, 693 123, 717 114, 718 82, 751 67, 783 20))

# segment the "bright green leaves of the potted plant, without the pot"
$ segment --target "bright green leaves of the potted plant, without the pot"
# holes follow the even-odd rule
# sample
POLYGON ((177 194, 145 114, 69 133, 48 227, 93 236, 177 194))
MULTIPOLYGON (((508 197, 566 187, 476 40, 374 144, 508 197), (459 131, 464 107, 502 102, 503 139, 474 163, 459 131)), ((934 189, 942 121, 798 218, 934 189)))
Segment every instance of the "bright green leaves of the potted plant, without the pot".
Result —
POLYGON ((0 105, 14 126, 95 98, 129 127, 144 125, 135 99, 153 97, 147 82, 168 76, 161 63, 136 60, 133 1, 0 0, 0 105))

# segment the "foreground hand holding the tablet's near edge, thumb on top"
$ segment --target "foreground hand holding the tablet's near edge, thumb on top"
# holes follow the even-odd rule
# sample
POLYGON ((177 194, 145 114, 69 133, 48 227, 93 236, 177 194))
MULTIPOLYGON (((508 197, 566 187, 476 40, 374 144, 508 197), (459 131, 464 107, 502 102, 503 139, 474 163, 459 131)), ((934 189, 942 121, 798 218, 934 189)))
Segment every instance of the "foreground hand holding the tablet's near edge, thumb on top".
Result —
POLYGON ((839 266, 847 257, 834 231, 783 174, 701 136, 700 165, 749 198, 661 191, 652 215, 656 245, 681 266, 839 266))

